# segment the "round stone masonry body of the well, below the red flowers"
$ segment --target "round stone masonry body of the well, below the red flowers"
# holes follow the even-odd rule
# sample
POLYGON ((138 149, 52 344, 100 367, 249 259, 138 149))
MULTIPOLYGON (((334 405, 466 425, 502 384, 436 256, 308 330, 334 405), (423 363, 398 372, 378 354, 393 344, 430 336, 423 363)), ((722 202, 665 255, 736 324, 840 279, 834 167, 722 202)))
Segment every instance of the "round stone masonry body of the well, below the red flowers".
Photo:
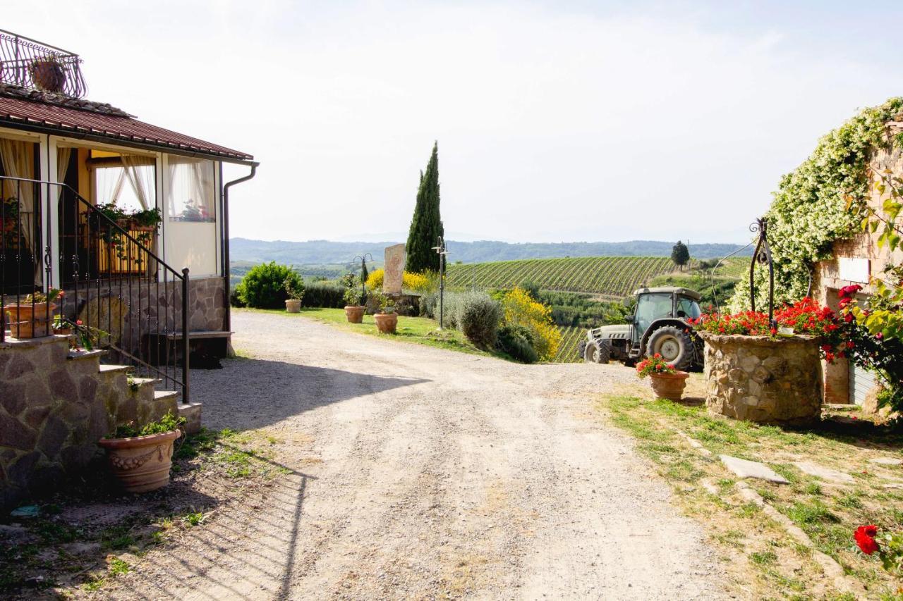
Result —
POLYGON ((788 425, 819 419, 824 384, 817 338, 700 336, 710 414, 788 425))

